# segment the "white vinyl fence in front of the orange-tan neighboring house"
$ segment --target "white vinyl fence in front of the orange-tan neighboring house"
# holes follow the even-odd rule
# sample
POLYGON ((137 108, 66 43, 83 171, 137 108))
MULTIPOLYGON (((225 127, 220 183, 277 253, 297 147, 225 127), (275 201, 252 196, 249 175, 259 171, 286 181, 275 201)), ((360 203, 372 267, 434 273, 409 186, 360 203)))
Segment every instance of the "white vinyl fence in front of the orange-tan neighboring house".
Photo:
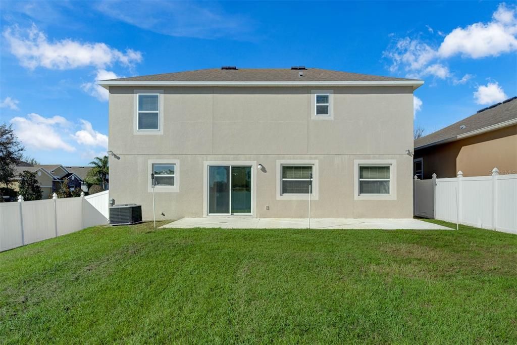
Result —
POLYGON ((414 214, 517 234, 517 174, 414 180, 414 214))

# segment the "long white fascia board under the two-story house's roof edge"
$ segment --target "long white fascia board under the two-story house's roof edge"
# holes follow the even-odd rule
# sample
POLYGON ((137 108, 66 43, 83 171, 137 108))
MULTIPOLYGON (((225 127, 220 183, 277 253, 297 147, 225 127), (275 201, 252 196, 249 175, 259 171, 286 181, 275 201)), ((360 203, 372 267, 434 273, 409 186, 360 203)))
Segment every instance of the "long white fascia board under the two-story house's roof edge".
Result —
POLYGON ((394 81, 98 81, 100 86, 413 86, 423 85, 423 80, 394 81))

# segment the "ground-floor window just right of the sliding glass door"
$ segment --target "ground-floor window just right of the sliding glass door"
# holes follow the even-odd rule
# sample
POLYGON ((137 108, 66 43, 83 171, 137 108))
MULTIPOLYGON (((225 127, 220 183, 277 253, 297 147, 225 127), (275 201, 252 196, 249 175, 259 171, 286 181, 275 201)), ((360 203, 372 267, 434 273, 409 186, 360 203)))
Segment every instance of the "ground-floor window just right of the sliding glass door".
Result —
POLYGON ((313 166, 300 164, 282 164, 281 195, 313 194, 313 166))

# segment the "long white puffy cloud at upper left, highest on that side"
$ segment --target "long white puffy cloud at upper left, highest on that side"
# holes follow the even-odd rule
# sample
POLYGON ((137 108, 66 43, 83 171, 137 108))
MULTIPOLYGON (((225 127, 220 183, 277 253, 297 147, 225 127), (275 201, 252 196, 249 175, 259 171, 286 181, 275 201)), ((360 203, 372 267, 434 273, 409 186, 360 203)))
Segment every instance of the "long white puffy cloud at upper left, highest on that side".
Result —
POLYGON ((72 39, 50 42, 35 24, 28 29, 21 29, 18 25, 8 27, 3 36, 9 51, 28 69, 73 69, 86 66, 100 69, 114 63, 131 67, 142 61, 139 51, 127 49, 123 53, 105 43, 83 43, 72 39))

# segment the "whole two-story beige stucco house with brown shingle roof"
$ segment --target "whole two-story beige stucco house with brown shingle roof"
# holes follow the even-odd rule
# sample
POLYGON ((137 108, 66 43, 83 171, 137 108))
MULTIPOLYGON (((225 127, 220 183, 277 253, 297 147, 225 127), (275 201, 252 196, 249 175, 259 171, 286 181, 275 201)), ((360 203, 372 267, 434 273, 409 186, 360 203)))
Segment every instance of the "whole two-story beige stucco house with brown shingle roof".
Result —
POLYGON ((413 217, 420 80, 317 68, 204 69, 101 81, 110 198, 144 219, 413 217))

